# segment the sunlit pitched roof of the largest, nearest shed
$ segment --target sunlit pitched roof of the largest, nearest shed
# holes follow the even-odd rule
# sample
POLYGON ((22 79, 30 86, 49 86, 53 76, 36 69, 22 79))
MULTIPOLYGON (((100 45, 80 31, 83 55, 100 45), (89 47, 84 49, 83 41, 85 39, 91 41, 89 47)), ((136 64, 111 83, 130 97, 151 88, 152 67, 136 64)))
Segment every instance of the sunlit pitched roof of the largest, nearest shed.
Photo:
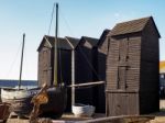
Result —
MULTIPOLYGON (((109 34, 109 36, 116 36, 116 35, 123 35, 123 34, 129 34, 129 33, 136 33, 136 32, 142 32, 143 29, 145 27, 146 23, 152 20, 152 16, 147 16, 147 18, 142 18, 142 19, 138 19, 138 20, 132 20, 132 21, 128 21, 128 22, 122 22, 122 23, 118 23, 111 31, 111 33, 109 34)), ((157 34, 160 36, 158 30, 154 23, 154 26, 157 31, 157 34)))

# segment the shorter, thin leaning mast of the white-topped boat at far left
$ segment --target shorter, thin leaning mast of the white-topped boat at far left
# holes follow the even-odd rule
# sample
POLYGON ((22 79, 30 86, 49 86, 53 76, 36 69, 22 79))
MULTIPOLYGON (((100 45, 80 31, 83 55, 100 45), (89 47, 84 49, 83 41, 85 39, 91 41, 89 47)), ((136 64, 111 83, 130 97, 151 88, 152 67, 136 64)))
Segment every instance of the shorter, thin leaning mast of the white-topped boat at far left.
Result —
POLYGON ((22 54, 21 54, 21 65, 20 65, 19 90, 20 90, 20 87, 21 87, 21 80, 22 80, 23 53, 24 53, 24 38, 25 38, 25 34, 23 33, 22 54))

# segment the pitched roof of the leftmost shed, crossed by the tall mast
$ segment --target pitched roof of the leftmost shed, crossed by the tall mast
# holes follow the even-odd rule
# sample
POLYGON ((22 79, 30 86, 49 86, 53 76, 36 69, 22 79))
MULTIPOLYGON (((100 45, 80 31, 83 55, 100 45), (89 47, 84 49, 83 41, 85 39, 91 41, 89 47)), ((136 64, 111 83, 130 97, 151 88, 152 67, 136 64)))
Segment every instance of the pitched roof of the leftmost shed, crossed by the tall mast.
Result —
MULTIPOLYGON (((45 35, 37 48, 37 51, 41 49, 42 45, 44 42, 48 42, 51 47, 54 47, 54 42, 55 42, 55 37, 54 36, 50 36, 50 35, 45 35)), ((66 38, 63 37, 58 37, 58 48, 61 49, 72 49, 70 44, 66 41, 66 38)))

